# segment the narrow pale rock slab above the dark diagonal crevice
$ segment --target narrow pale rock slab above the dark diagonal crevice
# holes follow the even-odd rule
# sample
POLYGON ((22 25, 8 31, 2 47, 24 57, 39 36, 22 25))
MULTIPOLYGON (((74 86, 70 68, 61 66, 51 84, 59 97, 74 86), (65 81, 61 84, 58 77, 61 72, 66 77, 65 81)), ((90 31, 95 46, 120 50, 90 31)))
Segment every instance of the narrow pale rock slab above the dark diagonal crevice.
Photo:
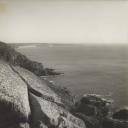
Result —
POLYGON ((54 100, 58 104, 63 104, 61 98, 47 85, 45 80, 19 66, 12 66, 12 68, 26 83, 29 92, 44 99, 49 98, 51 101, 54 100))

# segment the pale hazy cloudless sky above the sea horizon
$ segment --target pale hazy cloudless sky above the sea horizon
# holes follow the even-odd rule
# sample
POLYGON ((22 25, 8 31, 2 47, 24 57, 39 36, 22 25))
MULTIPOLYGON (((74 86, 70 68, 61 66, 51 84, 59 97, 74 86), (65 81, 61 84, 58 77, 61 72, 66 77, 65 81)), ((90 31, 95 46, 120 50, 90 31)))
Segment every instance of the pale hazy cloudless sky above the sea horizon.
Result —
POLYGON ((0 0, 0 40, 128 43, 128 1, 0 0))

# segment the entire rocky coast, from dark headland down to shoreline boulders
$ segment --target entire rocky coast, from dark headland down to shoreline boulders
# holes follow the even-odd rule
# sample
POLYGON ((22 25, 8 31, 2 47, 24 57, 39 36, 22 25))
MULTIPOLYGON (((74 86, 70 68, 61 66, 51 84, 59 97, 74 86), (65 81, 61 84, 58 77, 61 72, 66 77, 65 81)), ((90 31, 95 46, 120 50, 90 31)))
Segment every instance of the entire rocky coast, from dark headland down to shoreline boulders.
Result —
POLYGON ((42 75, 59 75, 0 42, 0 128, 128 128, 128 109, 111 100, 68 90, 42 75), (60 94, 61 93, 61 94, 60 94))

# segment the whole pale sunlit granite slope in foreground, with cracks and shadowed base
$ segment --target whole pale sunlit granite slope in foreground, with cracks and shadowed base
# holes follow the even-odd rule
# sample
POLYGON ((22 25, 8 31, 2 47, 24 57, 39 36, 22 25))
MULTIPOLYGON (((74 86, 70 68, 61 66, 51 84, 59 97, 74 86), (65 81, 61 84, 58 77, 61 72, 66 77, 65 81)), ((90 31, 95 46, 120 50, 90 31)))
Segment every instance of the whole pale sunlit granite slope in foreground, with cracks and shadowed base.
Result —
POLYGON ((61 98, 47 83, 32 72, 1 60, 0 81, 0 127, 86 127, 64 108, 61 98), (3 116, 2 112, 6 114, 3 116))

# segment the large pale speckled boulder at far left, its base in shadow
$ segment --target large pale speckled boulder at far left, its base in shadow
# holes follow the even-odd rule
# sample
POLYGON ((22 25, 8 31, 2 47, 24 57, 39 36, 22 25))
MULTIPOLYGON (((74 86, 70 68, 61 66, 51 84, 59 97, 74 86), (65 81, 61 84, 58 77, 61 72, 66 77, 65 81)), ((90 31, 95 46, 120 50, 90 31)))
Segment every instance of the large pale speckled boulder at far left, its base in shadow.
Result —
POLYGON ((0 128, 28 122, 30 113, 26 84, 9 64, 0 60, 0 128))

